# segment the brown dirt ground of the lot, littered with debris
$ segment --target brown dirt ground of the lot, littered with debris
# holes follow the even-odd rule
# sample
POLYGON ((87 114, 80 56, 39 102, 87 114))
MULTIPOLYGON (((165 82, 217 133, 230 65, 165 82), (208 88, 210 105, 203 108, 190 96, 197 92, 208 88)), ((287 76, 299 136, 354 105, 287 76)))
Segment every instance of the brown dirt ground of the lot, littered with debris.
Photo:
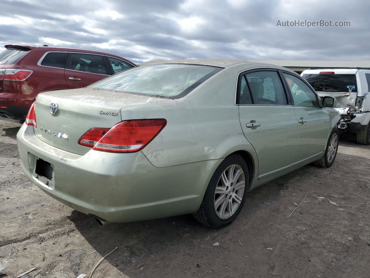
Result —
POLYGON ((27 178, 19 127, 0 120, 0 277, 36 266, 30 277, 90 275, 115 247, 93 277, 370 277, 370 147, 353 136, 341 136, 332 168, 307 165, 249 192, 226 228, 191 215, 101 228, 27 178))

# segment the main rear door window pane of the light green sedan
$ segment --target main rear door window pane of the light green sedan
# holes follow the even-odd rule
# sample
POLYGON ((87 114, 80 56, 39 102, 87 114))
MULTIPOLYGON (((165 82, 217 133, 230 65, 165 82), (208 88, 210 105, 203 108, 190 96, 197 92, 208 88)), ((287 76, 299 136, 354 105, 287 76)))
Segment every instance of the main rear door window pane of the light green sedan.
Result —
POLYGON ((256 105, 287 105, 280 77, 275 71, 252 72, 245 75, 256 105))

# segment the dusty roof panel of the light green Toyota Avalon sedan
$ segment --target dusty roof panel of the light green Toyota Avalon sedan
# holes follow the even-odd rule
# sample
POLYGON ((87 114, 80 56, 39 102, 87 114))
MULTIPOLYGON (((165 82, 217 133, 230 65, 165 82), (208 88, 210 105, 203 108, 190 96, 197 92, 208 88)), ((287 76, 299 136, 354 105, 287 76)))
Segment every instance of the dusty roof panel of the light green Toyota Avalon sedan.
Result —
MULTIPOLYGON (((219 59, 186 59, 186 60, 171 60, 171 61, 149 61, 142 64, 140 66, 144 66, 146 64, 195 64, 200 66, 212 66, 212 67, 230 67, 236 64, 249 64, 250 68, 252 67, 275 67, 279 69, 284 69, 289 72, 291 70, 286 69, 285 67, 273 65, 273 64, 266 64, 266 63, 257 63, 256 61, 248 61, 248 60, 219 60, 219 59)), ((248 68, 248 67, 247 67, 248 68)))

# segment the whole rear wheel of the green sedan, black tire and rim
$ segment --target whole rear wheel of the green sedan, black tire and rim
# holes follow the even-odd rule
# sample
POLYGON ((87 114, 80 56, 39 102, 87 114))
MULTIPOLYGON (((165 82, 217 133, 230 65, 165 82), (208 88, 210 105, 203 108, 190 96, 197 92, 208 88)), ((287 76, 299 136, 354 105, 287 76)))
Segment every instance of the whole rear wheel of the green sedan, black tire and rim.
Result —
POLYGON ((248 166, 238 154, 225 158, 208 184, 194 218, 211 228, 229 225, 240 213, 249 186, 248 166))

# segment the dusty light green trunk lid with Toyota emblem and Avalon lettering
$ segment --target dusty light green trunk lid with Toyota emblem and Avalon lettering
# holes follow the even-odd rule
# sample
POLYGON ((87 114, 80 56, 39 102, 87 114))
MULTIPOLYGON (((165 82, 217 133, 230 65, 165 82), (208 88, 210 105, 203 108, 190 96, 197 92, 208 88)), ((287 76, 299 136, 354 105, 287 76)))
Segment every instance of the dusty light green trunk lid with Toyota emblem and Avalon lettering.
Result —
POLYGON ((126 107, 168 100, 89 88, 41 93, 35 105, 34 131, 49 145, 84 155, 91 148, 79 145, 78 139, 87 130, 112 128, 121 122, 121 109, 126 107))

